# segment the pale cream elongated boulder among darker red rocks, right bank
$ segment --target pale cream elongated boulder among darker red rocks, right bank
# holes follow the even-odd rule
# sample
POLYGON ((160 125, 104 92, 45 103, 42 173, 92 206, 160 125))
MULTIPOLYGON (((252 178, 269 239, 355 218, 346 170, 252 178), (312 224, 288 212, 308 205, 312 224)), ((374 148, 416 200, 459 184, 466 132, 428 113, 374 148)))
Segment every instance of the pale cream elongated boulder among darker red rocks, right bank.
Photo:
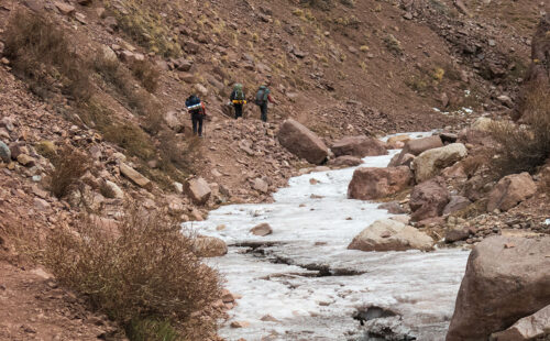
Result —
POLYGON ((426 182, 466 156, 468 150, 462 143, 426 151, 413 162, 411 168, 415 169, 416 182, 418 184, 426 182))

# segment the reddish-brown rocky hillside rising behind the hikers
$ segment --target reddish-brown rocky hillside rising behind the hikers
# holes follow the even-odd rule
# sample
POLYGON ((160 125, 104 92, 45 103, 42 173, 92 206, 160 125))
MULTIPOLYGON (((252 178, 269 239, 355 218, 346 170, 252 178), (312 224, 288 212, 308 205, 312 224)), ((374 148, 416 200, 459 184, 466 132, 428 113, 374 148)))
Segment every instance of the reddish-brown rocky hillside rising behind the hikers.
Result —
MULTIPOLYGON (((18 278, 42 280, 34 287, 41 293, 55 289, 50 275, 20 272, 34 267, 28 244, 78 226, 81 212, 109 226, 138 201, 150 212, 166 208, 178 221, 199 221, 221 205, 271 201, 289 177, 326 161, 308 162, 307 153, 279 143, 287 119, 316 133, 316 145, 334 146, 344 136, 432 129, 452 135, 480 116, 525 110, 524 78, 531 81, 548 64, 540 57, 531 65, 531 46, 535 56, 548 50, 544 38, 531 38, 548 10, 527 0, 0 1, 0 272, 10 278, 0 280, 0 295, 16 297, 21 287, 9 286, 18 278), (254 105, 244 120, 232 119, 234 82, 251 99, 271 85, 270 123, 254 105), (202 140, 191 136, 183 110, 193 92, 207 105, 202 140)), ((480 135, 461 136, 474 155, 487 150, 480 135)), ((356 163, 323 148, 330 167, 356 163)), ((479 180, 482 170, 470 170, 454 189, 490 186, 479 180)), ((544 175, 535 177, 538 184, 544 175)), ((477 193, 463 197, 476 201, 477 193)), ((457 241, 472 244, 497 233, 468 230, 479 220, 524 228, 518 217, 526 213, 542 230, 544 198, 529 196, 506 218, 491 210, 438 220, 430 233, 452 226, 457 241)), ((62 307, 66 295, 57 296, 62 307)), ((65 323, 62 315, 54 324, 65 323)), ((0 324, 0 336, 48 329, 34 321, 23 328, 16 318, 0 324)), ((102 317, 101 328, 90 318, 81 317, 90 326, 76 328, 79 337, 67 338, 116 333, 102 317)))

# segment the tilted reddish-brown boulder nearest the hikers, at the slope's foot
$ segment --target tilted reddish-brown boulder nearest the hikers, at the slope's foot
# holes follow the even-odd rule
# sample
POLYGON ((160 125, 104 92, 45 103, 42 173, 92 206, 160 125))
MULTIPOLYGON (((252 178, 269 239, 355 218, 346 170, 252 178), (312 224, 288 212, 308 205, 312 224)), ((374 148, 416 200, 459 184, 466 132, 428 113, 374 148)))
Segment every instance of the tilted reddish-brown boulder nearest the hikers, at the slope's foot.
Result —
POLYGON ((294 120, 286 120, 280 125, 278 141, 290 153, 312 164, 321 164, 329 155, 321 139, 294 120))

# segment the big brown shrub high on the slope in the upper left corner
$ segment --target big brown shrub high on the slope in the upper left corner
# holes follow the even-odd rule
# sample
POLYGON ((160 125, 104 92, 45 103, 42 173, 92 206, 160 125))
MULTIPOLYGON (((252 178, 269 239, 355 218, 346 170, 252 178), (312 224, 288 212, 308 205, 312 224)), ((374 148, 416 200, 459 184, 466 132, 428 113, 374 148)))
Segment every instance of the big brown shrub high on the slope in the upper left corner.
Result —
POLYGON ((57 23, 29 11, 15 12, 6 30, 6 56, 28 80, 31 90, 45 98, 57 86, 77 101, 92 94, 90 68, 72 46, 57 23))

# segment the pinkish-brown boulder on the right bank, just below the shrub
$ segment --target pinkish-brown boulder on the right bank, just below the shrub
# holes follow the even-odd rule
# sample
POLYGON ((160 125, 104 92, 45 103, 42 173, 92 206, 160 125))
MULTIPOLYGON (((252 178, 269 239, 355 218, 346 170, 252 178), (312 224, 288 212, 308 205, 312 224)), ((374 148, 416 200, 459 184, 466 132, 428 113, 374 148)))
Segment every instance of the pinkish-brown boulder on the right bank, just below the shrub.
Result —
POLYGON ((537 185, 529 173, 505 176, 490 193, 487 211, 492 212, 495 209, 507 211, 536 193, 537 185))

